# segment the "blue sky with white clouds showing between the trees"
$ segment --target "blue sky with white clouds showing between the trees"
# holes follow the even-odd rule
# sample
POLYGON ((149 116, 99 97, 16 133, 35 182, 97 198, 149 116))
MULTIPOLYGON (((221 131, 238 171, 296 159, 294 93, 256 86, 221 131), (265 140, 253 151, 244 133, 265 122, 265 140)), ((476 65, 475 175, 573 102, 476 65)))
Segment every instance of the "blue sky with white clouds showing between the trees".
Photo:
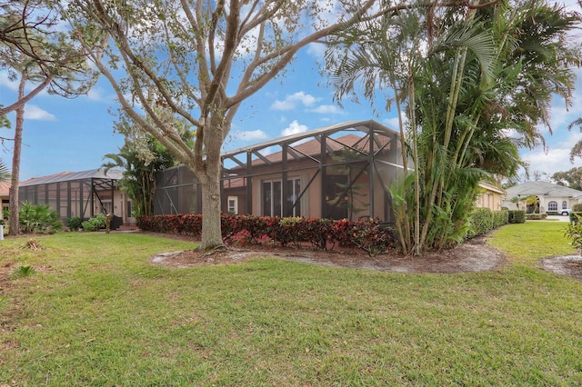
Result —
MULTIPOLYGON (((575 3, 574 0, 571 1, 575 3)), ((580 35, 577 36, 579 39, 580 35)), ((225 150, 255 144, 282 135, 315 129, 348 120, 375 119, 397 129, 396 111, 375 116, 372 107, 346 103, 340 109, 333 103, 333 90, 325 86, 316 67, 321 55, 318 47, 308 47, 288 68, 284 77, 267 84, 246 101, 233 122, 225 150)), ((555 98, 552 104, 553 135, 545 133, 547 152, 540 146, 523 150, 522 158, 530 163, 531 171, 553 174, 582 166, 582 160, 569 162, 569 151, 582 138, 577 130, 567 130, 567 124, 582 117, 582 69, 577 69, 577 87, 572 106, 566 110, 564 101, 555 98)), ((0 72, 0 104, 15 101, 16 82, 0 72)), ((32 84, 29 84, 32 88, 32 84)), ((381 105, 377 110, 382 110, 381 105)), ((116 153, 123 136, 114 134, 115 110, 113 90, 101 78, 88 95, 74 100, 49 94, 37 95, 25 108, 20 180, 58 174, 65 171, 95 169, 104 163, 103 156, 116 153)), ((13 129, 0 129, 0 137, 13 138, 15 114, 8 118, 13 129)), ((0 158, 11 166, 13 145, 5 141, 0 158)))

